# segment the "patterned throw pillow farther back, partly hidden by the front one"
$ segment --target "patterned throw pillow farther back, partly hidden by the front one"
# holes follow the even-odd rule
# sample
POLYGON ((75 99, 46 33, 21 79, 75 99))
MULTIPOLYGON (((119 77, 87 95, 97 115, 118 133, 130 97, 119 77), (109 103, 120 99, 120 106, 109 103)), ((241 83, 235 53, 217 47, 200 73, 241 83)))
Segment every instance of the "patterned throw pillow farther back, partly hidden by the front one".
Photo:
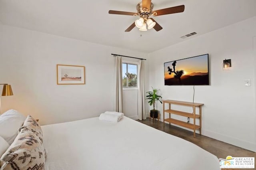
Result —
POLYGON ((43 142, 43 132, 38 122, 30 115, 24 121, 22 127, 19 128, 19 132, 31 131, 43 142))

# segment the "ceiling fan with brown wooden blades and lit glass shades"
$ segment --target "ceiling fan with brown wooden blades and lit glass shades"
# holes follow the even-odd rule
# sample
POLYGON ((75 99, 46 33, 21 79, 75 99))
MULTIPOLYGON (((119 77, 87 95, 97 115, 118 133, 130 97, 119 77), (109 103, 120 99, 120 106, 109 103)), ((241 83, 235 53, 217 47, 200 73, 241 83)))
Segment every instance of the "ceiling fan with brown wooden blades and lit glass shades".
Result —
POLYGON ((108 14, 140 16, 140 18, 132 23, 132 25, 128 27, 125 32, 130 32, 135 26, 139 28, 140 31, 147 31, 147 25, 148 29, 154 28, 156 31, 160 31, 163 28, 153 18, 149 18, 150 16, 179 13, 183 12, 185 8, 184 5, 180 5, 153 11, 153 7, 154 5, 151 0, 142 0, 142 2, 137 4, 137 13, 109 10, 108 14))

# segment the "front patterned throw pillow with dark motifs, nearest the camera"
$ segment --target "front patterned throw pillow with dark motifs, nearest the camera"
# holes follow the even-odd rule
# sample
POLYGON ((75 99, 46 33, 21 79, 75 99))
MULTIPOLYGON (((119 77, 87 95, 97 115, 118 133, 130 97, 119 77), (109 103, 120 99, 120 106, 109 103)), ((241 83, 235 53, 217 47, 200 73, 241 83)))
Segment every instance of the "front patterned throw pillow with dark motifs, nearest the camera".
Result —
POLYGON ((44 170, 45 150, 31 131, 20 132, 0 159, 1 170, 44 170))

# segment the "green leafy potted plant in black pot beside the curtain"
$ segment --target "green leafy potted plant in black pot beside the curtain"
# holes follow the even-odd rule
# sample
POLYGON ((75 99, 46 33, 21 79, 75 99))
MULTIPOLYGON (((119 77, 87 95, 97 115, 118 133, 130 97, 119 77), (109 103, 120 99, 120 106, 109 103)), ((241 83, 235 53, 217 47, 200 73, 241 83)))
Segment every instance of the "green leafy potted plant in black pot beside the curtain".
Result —
POLYGON ((150 110, 150 117, 152 118, 157 118, 158 117, 158 110, 155 110, 155 103, 156 101, 160 101, 160 103, 162 103, 161 99, 162 96, 159 95, 159 90, 158 89, 154 89, 152 87, 153 91, 148 91, 147 92, 147 96, 146 99, 148 99, 148 103, 150 106, 153 105, 153 110, 150 110))

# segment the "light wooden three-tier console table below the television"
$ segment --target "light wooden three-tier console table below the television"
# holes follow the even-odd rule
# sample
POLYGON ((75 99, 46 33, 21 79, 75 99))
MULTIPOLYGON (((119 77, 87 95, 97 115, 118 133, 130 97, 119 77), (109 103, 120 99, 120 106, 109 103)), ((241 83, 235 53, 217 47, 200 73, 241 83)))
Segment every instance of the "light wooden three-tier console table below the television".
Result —
POLYGON ((165 107, 164 106, 165 103, 169 104, 168 109, 165 109, 165 108, 163 109, 163 115, 164 115, 165 112, 169 113, 169 118, 164 119, 164 124, 165 124, 165 122, 169 122, 170 124, 173 123, 175 125, 180 125, 182 127, 190 128, 190 129, 194 130, 194 138, 196 137, 196 129, 199 129, 200 130, 200 135, 201 135, 201 130, 202 130, 201 115, 202 115, 202 105, 204 105, 203 103, 192 103, 192 102, 175 101, 175 100, 163 100, 162 102, 163 102, 163 108, 165 107), (172 110, 171 109, 171 104, 172 105, 183 105, 183 106, 193 107, 193 113, 187 113, 187 112, 172 110), (196 114, 196 107, 199 107, 199 115, 196 114), (183 121, 179 121, 179 120, 176 120, 176 119, 171 119, 171 114, 192 118, 192 119, 194 119, 193 124, 183 122, 183 121), (196 125, 196 119, 199 119, 199 125, 196 125))

